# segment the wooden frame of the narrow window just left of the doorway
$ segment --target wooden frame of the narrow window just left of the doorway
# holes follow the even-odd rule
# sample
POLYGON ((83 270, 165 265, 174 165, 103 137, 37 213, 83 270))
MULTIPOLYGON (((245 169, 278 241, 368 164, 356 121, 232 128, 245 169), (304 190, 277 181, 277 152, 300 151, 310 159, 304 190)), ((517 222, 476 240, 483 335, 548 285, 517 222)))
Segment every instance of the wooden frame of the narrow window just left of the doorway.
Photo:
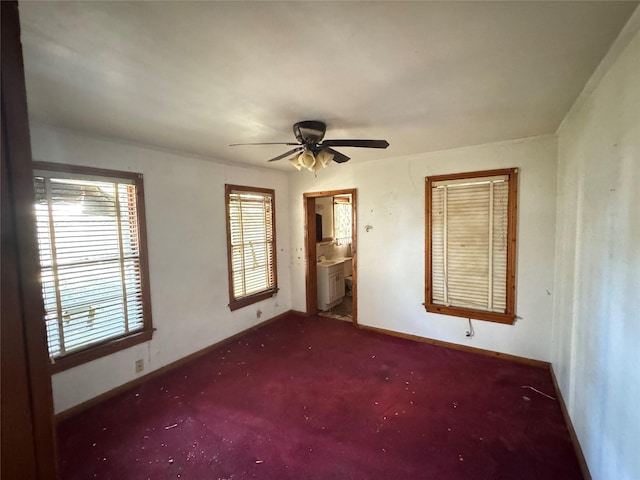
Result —
POLYGON ((262 187, 248 187, 244 185, 231 185, 225 184, 225 211, 226 211, 226 224, 227 224, 227 271, 229 275, 229 309, 231 311, 238 310, 239 308, 243 308, 254 303, 260 302, 262 300, 266 300, 267 298, 271 298, 278 293, 278 262, 277 262, 277 251, 276 248, 276 192, 271 188, 262 188, 262 187), (247 295, 244 297, 236 297, 235 292, 233 291, 233 253, 232 253, 232 245, 231 245, 231 216, 230 216, 230 195, 232 192, 251 192, 251 193, 261 193, 264 195, 271 196, 271 225, 273 231, 272 234, 272 252, 271 258, 273 259, 271 269, 273 273, 273 286, 269 288, 253 293, 251 295, 247 295))

